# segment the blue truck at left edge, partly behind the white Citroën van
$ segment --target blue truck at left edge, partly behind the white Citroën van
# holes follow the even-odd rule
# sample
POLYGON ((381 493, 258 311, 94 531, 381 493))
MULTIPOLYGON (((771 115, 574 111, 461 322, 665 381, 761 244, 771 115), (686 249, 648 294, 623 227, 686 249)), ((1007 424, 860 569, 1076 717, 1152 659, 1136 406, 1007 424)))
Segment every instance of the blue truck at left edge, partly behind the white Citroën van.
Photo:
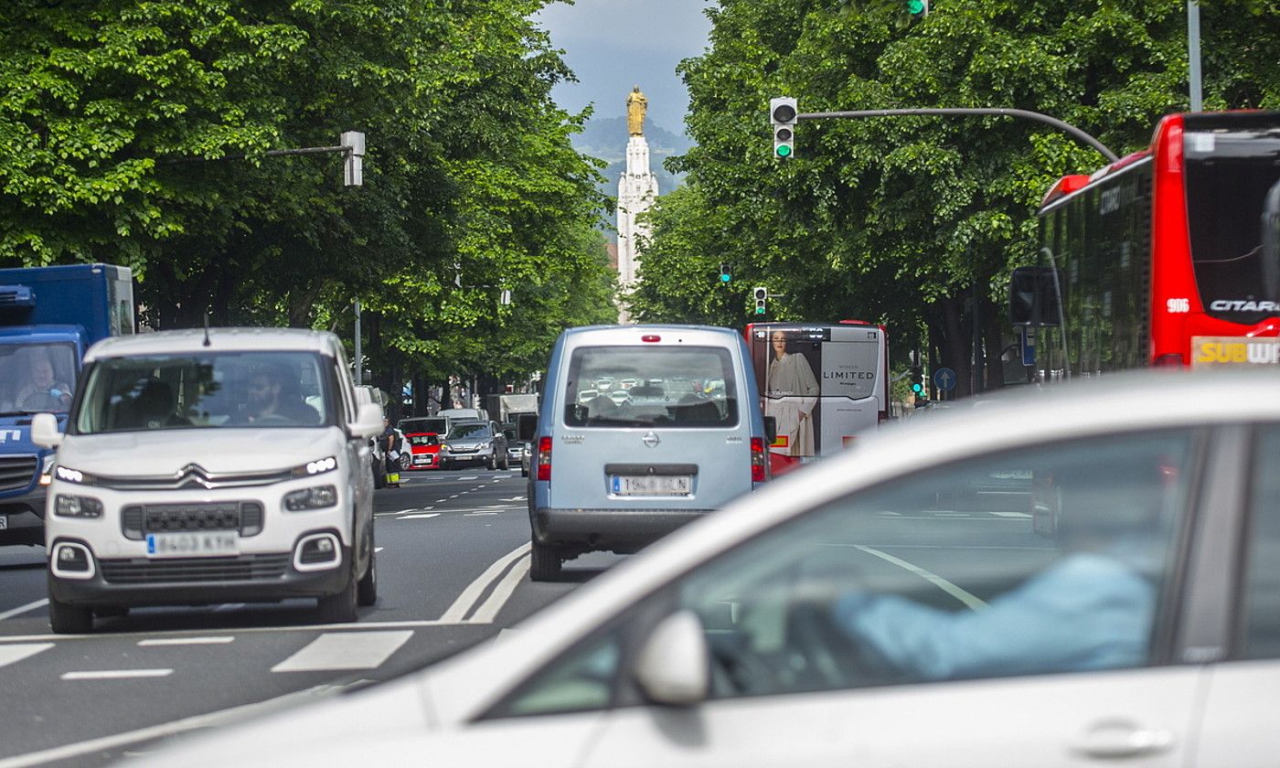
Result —
POLYGON ((0 269, 0 547, 45 543, 52 452, 31 442, 36 413, 67 412, 90 344, 133 333, 128 268, 0 269))

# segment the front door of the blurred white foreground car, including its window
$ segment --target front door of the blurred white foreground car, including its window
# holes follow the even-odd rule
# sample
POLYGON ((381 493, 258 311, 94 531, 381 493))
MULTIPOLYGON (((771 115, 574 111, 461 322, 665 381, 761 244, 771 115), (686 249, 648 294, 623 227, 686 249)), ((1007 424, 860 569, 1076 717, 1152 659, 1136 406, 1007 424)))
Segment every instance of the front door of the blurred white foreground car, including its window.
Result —
POLYGON ((637 608, 698 616, 709 695, 628 698, 622 658, 581 764, 1181 765, 1206 672, 1169 637, 1202 453, 1193 430, 1091 438, 805 512, 637 608), (1011 476, 1025 512, 984 504, 1011 476), (1030 484, 1057 489, 1051 538, 1030 484))

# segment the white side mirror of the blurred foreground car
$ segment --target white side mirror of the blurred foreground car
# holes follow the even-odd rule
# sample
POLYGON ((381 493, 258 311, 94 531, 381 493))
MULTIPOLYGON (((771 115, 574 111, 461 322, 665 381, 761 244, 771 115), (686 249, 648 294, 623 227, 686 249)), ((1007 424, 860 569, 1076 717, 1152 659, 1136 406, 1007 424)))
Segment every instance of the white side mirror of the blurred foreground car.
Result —
POLYGON ((698 616, 681 611, 658 622, 636 655, 634 676, 654 704, 690 707, 704 701, 710 652, 698 616))

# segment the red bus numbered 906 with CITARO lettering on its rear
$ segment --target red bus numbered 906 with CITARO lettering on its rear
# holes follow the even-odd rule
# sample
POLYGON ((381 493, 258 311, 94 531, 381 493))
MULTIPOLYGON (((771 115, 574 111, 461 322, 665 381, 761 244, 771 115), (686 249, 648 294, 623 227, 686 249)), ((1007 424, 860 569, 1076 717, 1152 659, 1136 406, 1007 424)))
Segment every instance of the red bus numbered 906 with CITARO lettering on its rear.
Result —
POLYGON ((1277 362, 1277 214, 1276 111, 1169 115, 1149 148, 1064 177, 1010 285, 1038 376, 1277 362))

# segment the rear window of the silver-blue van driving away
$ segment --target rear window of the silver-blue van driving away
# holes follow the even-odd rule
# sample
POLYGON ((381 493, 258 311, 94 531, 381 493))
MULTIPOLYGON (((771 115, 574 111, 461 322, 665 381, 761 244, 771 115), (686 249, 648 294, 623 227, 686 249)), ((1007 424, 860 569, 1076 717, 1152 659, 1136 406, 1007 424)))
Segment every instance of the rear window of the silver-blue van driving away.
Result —
POLYGON ((728 349, 580 347, 568 364, 568 426, 737 425, 728 349))

